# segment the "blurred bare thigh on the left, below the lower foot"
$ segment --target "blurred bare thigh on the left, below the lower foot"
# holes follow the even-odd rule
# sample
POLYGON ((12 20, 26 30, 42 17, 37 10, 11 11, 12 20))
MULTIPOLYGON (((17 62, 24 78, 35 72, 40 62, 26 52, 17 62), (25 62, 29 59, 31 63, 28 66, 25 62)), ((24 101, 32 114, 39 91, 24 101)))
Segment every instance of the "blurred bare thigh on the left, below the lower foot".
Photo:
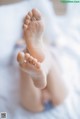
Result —
POLYGON ((21 72, 21 104, 29 111, 43 111, 41 91, 33 84, 31 77, 20 70, 21 72))

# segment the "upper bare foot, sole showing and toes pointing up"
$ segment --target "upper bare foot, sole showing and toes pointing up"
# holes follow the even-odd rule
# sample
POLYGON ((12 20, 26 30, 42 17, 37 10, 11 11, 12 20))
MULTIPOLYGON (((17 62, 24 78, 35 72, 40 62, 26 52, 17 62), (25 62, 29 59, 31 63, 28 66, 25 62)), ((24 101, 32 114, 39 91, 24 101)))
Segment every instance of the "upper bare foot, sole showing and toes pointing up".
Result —
POLYGON ((24 39, 31 56, 42 62, 45 58, 43 46, 44 23, 40 12, 33 9, 24 20, 24 39))

